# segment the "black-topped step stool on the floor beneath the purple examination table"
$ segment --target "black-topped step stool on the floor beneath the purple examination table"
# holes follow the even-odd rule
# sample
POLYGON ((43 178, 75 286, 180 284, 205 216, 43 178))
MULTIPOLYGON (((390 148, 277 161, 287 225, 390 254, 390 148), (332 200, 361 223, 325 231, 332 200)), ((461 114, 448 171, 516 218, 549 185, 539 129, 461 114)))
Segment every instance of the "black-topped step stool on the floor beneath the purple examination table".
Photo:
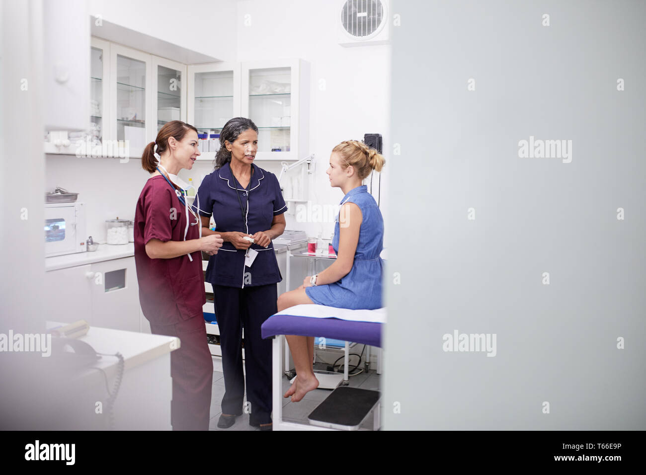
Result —
POLYGON ((312 425, 357 430, 378 402, 378 391, 339 386, 307 418, 312 425))

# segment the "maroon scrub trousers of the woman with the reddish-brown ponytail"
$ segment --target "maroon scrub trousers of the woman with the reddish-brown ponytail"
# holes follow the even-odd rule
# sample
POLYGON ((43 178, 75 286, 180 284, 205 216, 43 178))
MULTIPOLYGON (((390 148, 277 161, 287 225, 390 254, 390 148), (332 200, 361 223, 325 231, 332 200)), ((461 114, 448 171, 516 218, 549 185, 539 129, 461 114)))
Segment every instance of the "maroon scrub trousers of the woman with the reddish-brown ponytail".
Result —
POLYGON ((171 352, 172 430, 209 430, 213 359, 202 315, 174 325, 151 322, 151 332, 178 337, 181 342, 171 352))

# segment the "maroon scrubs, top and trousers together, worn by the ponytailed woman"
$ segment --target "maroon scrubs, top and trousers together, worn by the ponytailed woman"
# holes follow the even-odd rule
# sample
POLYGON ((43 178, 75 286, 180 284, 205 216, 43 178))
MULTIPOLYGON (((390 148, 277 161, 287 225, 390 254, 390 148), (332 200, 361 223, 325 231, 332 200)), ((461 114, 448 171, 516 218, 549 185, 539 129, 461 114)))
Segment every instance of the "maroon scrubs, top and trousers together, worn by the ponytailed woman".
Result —
MULTIPOLYGON (((202 306, 206 302, 202 253, 172 259, 151 259, 145 245, 151 239, 182 241, 185 206, 161 175, 146 182, 134 218, 134 259, 143 315, 152 333, 181 341, 171 352, 173 430, 208 430, 213 360, 207 344, 202 306)), ((200 237, 201 224, 189 211, 186 240, 200 237)))

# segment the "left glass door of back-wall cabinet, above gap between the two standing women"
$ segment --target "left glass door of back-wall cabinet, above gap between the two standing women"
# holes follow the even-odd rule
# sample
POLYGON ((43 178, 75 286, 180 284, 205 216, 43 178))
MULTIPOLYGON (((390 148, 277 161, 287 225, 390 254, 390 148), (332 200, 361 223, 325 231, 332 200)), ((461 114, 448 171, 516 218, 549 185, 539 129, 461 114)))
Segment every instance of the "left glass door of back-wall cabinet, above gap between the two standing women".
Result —
POLYGON ((240 116, 240 66, 189 66, 188 81, 188 122, 205 139, 198 160, 213 160, 222 127, 229 119, 240 116))

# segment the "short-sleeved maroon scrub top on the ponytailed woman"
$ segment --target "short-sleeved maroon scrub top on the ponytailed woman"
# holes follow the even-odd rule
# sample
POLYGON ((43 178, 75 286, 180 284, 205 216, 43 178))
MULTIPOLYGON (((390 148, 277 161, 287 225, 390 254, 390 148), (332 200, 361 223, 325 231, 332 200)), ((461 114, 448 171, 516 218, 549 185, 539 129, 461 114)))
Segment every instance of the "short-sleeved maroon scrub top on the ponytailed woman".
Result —
MULTIPOLYGON (((189 222, 195 221, 189 211, 189 222)), ((200 226, 189 226, 186 240, 199 238, 200 226)), ((180 319, 202 317, 206 302, 202 253, 192 253, 193 262, 186 254, 172 259, 151 259, 146 254, 149 240, 182 241, 185 227, 185 207, 175 189, 161 175, 149 178, 134 215, 134 260, 141 310, 152 324, 171 325, 180 319)))

